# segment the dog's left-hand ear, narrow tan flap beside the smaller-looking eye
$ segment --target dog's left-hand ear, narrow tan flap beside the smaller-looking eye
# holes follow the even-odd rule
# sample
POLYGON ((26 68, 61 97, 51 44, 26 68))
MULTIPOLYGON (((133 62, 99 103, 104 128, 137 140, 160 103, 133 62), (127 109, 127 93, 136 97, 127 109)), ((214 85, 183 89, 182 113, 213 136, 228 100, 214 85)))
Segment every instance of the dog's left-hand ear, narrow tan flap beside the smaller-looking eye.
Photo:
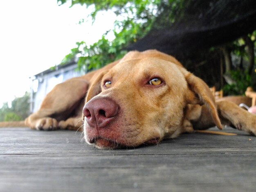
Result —
POLYGON ((98 95, 101 93, 101 80, 103 78, 103 76, 107 73, 108 71, 102 71, 97 78, 95 78, 95 80, 92 82, 92 84, 90 85, 89 89, 88 89, 88 93, 85 99, 85 103, 87 103, 91 98, 93 98, 94 96, 98 95))

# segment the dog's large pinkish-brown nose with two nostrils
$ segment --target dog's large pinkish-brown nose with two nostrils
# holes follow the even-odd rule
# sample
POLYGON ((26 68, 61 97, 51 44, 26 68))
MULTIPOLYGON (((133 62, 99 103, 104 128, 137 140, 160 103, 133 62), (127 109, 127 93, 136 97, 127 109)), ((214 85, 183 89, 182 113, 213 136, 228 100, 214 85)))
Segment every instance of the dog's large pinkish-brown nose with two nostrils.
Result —
POLYGON ((83 107, 85 120, 91 127, 104 127, 117 115, 119 105, 110 98, 88 101, 83 107))

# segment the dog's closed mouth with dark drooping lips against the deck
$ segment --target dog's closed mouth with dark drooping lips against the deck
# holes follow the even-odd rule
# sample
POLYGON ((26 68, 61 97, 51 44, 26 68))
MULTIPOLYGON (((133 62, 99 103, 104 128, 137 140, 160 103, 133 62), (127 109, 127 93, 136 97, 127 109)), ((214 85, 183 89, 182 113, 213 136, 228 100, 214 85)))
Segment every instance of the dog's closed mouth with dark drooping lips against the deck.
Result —
MULTIPOLYGON (((94 144, 97 148, 99 149, 122 149, 122 148, 130 148, 130 147, 135 147, 135 146, 129 146, 123 143, 120 143, 117 140, 111 140, 108 138, 103 138, 103 137, 95 137, 92 138, 88 141, 90 144, 94 144)), ((152 138, 144 143, 141 143, 141 145, 157 145, 159 143, 159 137, 152 138)), ((137 145, 139 146, 139 145, 137 145)))

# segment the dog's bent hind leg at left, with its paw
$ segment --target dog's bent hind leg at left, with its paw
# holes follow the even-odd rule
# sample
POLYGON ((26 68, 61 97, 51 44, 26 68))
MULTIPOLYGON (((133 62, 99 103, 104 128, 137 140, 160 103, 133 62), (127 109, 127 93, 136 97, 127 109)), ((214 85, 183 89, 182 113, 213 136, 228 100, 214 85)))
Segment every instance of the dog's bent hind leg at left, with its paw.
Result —
MULTIPOLYGON (((63 126, 59 127, 59 122, 70 118, 81 102, 84 103, 87 89, 88 82, 80 78, 73 78, 56 85, 47 94, 40 109, 25 120, 25 124, 31 129, 38 130, 64 128, 63 122, 61 124, 63 126)), ((81 113, 77 116, 80 117, 81 113)))

